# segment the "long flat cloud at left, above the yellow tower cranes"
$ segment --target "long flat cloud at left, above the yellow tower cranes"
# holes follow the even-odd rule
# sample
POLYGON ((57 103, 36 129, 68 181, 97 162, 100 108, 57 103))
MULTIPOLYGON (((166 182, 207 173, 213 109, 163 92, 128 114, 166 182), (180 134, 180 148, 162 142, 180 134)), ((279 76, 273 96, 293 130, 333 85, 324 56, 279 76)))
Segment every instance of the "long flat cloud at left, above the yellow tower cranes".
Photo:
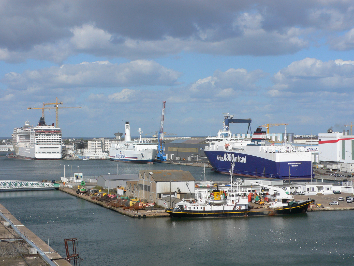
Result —
POLYGON ((113 64, 109 61, 65 64, 23 73, 10 72, 2 83, 12 89, 104 88, 137 85, 174 85, 181 73, 155 61, 135 60, 113 64))

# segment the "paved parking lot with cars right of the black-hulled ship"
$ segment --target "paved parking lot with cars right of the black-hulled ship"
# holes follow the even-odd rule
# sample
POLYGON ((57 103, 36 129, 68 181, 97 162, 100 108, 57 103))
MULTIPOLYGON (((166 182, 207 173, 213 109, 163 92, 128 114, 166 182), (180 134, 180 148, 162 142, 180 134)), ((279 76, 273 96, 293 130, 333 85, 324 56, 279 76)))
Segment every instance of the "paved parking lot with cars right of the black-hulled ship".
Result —
MULTIPOLYGON (((315 199, 315 203, 321 204, 321 206, 324 206, 325 209, 327 210, 348 210, 348 209, 353 209, 354 210, 354 202, 352 203, 347 203, 346 200, 344 201, 338 201, 339 197, 342 198, 347 198, 347 196, 352 196, 351 193, 342 193, 342 194, 331 194, 331 195, 323 195, 323 194, 317 194, 313 196, 301 196, 301 195, 295 195, 294 199, 295 200, 307 200, 308 198, 310 199, 315 199), (329 205, 330 202, 332 201, 338 201, 339 205, 329 205)), ((323 208, 313 208, 313 209, 322 209, 323 208)))

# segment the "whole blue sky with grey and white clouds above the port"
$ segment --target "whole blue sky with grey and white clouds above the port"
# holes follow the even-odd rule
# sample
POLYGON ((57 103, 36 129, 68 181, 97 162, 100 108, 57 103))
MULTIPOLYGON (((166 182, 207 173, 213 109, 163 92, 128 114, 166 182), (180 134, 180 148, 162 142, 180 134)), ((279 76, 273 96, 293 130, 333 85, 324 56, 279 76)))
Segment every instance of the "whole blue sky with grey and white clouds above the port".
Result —
POLYGON ((56 97, 81 106, 59 110, 63 137, 159 131, 162 101, 179 136, 215 135, 222 113, 252 131, 343 131, 353 50, 354 1, 1 0, 0 137, 56 97))

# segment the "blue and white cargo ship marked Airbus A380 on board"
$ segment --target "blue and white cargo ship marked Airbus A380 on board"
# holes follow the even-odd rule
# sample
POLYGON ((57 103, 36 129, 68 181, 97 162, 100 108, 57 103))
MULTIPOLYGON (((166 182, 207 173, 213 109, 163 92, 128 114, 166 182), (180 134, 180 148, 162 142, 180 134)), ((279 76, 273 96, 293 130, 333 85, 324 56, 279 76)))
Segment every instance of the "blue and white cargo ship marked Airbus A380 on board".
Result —
POLYGON ((303 147, 288 144, 286 138, 282 144, 267 143, 260 127, 252 139, 233 137, 225 121, 216 137, 206 139, 209 146, 204 153, 213 170, 228 174, 230 162, 234 162, 238 176, 296 180, 314 176, 311 153, 303 147))

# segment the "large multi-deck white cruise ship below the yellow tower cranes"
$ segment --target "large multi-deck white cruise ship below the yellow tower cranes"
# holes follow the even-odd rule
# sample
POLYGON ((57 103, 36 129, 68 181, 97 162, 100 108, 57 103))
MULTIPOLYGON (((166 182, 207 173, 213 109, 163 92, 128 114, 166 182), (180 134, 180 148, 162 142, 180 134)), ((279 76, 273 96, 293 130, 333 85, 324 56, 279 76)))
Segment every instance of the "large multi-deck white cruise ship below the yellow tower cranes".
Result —
POLYGON ((29 159, 61 159, 62 131, 54 123, 46 124, 39 118, 37 126, 30 126, 27 120, 23 127, 14 128, 12 146, 16 155, 29 159))

